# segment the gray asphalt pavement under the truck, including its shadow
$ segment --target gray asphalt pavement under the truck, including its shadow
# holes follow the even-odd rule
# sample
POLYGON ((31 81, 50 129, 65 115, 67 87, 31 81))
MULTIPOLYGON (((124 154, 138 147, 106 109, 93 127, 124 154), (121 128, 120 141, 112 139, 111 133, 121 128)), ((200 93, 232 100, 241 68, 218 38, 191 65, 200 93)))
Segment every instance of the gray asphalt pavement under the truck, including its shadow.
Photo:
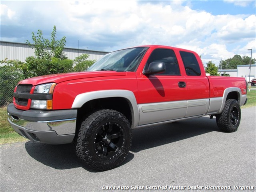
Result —
POLYGON ((105 172, 85 168, 72 144, 0 146, 1 192, 255 190, 255 107, 242 109, 234 133, 220 132, 209 116, 133 130, 128 158, 105 172))

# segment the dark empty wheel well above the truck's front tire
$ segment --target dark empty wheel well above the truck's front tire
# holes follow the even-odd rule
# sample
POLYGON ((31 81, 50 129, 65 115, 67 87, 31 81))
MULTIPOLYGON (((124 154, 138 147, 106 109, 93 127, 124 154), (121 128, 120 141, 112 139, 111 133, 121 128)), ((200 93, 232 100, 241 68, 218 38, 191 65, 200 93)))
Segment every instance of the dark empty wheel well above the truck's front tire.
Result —
POLYGON ((122 97, 113 98, 100 98, 86 102, 80 109, 78 109, 77 120, 76 120, 76 134, 80 128, 80 124, 90 114, 101 109, 112 109, 116 110, 128 119, 129 123, 132 124, 132 112, 130 109, 129 101, 122 97))

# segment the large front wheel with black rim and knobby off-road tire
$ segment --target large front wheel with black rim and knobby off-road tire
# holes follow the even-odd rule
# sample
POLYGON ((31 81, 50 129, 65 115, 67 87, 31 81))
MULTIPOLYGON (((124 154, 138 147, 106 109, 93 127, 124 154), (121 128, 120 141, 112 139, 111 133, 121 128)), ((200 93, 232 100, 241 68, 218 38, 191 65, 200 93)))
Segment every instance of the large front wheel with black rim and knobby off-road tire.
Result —
POLYGON ((104 171, 120 165, 131 144, 132 130, 127 118, 115 110, 99 110, 82 122, 76 154, 90 168, 104 171))

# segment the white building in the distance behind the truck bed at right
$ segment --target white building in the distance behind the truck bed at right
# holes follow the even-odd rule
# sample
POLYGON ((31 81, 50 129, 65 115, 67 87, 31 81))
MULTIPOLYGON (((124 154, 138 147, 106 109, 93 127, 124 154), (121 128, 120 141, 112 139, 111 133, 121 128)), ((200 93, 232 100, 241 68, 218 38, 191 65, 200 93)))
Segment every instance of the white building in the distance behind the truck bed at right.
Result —
POLYGON ((256 65, 238 65, 236 69, 219 69, 221 75, 230 74, 231 77, 244 77, 247 82, 256 78, 256 65), (250 69, 251 68, 251 69, 250 69))

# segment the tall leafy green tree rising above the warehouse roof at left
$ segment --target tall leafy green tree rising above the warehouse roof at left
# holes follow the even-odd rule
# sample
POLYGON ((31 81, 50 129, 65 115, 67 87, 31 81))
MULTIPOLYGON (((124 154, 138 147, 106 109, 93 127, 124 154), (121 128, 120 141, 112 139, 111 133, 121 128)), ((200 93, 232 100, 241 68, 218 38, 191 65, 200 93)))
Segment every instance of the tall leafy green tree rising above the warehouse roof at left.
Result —
POLYGON ((56 26, 53 27, 51 40, 43 37, 43 32, 38 30, 37 34, 32 32, 33 44, 28 40, 27 44, 35 48, 36 57, 26 58, 26 64, 22 67, 25 78, 56 74, 72 71, 72 60, 64 56, 66 37, 56 40, 56 26))

